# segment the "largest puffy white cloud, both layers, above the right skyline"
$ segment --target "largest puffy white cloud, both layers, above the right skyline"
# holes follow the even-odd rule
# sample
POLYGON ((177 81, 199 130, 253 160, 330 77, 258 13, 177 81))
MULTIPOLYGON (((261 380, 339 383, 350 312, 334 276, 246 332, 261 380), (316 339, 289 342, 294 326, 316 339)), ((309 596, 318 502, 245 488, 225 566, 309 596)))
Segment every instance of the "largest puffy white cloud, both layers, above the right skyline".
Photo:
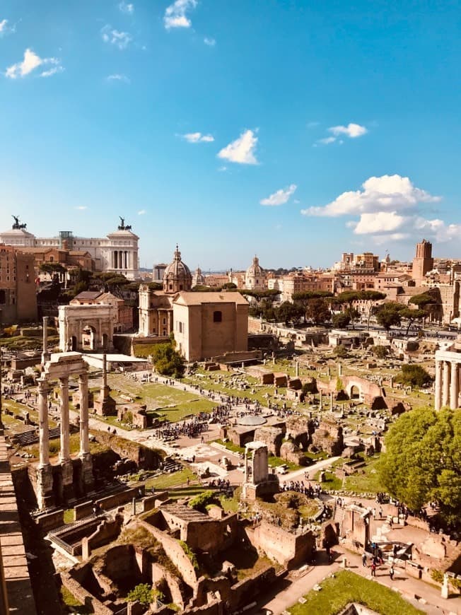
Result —
POLYGON ((421 215, 421 206, 440 201, 424 189, 414 186, 409 177, 383 175, 370 177, 362 189, 343 192, 323 207, 301 210, 305 216, 358 216, 346 227, 355 235, 372 235, 377 244, 425 235, 438 242, 461 239, 461 224, 447 224, 439 218, 421 215))

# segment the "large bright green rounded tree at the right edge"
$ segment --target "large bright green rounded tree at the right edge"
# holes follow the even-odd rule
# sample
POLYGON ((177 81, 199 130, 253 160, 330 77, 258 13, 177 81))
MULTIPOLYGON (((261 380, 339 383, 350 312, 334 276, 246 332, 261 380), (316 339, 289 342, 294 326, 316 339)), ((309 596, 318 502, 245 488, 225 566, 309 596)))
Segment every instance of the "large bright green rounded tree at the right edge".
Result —
POLYGON ((402 414, 385 438, 380 480, 418 511, 436 500, 447 525, 460 527, 461 409, 417 409, 402 414))

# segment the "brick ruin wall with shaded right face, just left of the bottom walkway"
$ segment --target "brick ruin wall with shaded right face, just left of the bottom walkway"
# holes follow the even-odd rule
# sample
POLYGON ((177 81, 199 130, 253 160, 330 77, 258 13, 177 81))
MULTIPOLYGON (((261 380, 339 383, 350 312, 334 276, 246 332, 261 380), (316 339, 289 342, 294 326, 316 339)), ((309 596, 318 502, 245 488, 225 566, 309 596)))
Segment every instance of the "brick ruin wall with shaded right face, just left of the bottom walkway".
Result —
POLYGON ((264 521, 255 528, 254 532, 248 532, 248 538, 255 549, 264 551, 269 558, 288 569, 310 560, 315 546, 312 532, 291 534, 281 527, 264 521))

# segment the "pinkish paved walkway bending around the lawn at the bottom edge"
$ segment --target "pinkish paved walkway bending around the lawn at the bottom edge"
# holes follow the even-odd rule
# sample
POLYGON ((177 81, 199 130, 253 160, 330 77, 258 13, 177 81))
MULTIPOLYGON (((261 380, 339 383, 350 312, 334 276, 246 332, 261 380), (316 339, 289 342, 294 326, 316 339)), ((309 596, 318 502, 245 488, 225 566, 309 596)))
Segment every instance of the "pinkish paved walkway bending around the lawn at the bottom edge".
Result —
MULTIPOLYGON (((404 569, 395 567, 394 580, 390 580, 388 566, 380 566, 376 570, 376 577, 372 578, 369 568, 363 568, 361 556, 346 551, 342 546, 334 546, 334 561, 329 564, 325 552, 317 555, 317 563, 312 568, 307 568, 306 572, 293 571, 288 575, 288 580, 282 581, 285 587, 279 590, 274 587, 272 596, 264 597, 258 603, 259 609, 269 609, 274 615, 279 615, 289 607, 298 602, 298 599, 307 594, 314 585, 327 578, 332 573, 342 570, 342 558, 346 557, 348 570, 375 580, 381 585, 398 590, 402 597, 411 602, 414 607, 428 613, 429 615, 458 615, 461 613, 461 598, 443 599, 440 590, 424 581, 408 577, 404 569), (423 599, 420 602, 419 599, 423 599)), ((395 614, 399 615, 399 614, 395 614)))

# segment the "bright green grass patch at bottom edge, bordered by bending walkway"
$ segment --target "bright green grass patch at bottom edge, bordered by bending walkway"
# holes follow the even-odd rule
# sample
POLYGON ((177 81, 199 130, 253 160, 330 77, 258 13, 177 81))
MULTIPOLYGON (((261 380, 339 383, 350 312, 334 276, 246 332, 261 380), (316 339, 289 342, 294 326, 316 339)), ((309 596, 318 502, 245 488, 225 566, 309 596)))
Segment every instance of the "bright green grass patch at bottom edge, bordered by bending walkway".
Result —
POLYGON ((305 595, 305 604, 288 609, 292 615, 336 615, 349 602, 359 602, 381 615, 417 615, 415 609, 389 587, 344 570, 322 583, 322 591, 305 595))

